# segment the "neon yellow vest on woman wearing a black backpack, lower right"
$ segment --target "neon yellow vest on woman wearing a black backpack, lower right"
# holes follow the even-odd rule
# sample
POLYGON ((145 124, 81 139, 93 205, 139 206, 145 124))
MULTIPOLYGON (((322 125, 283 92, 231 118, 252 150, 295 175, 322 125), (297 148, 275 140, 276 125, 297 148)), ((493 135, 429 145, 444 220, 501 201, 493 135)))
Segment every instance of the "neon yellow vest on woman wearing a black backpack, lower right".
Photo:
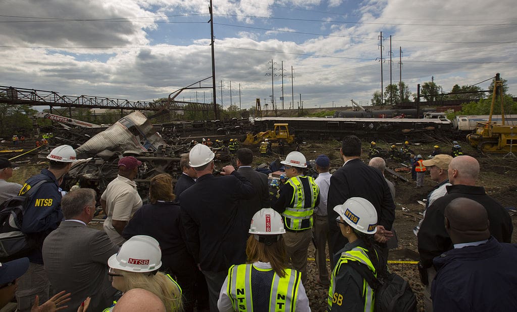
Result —
MULTIPOLYGON (((376 253, 376 252, 375 252, 376 253)), ((336 264, 336 267, 334 267, 334 270, 332 271, 332 276, 330 278, 330 288, 328 290, 328 310, 332 308, 332 299, 334 296, 334 293, 336 292, 336 285, 334 284, 334 280, 336 279, 336 276, 339 274, 339 270, 341 269, 341 266, 344 263, 347 263, 348 261, 358 261, 362 264, 366 264, 370 270, 373 272, 373 275, 377 277, 377 272, 375 271, 375 268, 373 267, 372 261, 367 255, 367 249, 364 249, 362 247, 355 247, 349 251, 343 252, 341 254, 341 258, 339 258, 338 263, 336 264)), ((350 287, 353 287, 352 285, 350 287)), ((368 285, 365 279, 362 280, 362 299, 364 300, 364 311, 373 312, 375 298, 374 298, 374 291, 368 285)), ((340 289, 339 293, 345 293, 344 290, 340 289)), ((342 298, 342 301, 345 301, 346 298, 342 298)))

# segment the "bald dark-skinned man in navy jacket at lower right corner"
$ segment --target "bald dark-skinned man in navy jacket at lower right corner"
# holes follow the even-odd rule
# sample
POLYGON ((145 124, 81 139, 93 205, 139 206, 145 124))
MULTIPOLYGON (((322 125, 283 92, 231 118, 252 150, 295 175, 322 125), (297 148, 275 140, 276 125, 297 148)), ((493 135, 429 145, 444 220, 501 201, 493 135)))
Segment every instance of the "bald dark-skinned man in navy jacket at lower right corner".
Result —
POLYGON ((435 311, 517 311, 517 245, 490 236, 488 213, 460 197, 445 208, 454 249, 434 258, 435 311))

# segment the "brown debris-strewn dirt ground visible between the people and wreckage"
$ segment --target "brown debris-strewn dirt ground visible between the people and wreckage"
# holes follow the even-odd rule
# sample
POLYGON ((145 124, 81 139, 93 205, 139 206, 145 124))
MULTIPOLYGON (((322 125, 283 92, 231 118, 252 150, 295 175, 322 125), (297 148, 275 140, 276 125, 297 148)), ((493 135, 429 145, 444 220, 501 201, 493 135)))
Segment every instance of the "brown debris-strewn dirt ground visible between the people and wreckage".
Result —
MULTIPOLYGON (((384 149, 388 149, 391 144, 395 142, 382 142, 378 141, 377 146, 381 146, 384 149)), ((442 151, 447 153, 450 151, 450 142, 434 142, 432 144, 423 145, 412 145, 412 149, 416 154, 422 154, 424 158, 427 158, 432 152, 432 146, 438 144, 442 146, 442 151)), ((486 192, 494 197, 496 200, 501 202, 505 207, 517 206, 517 159, 512 157, 504 158, 505 154, 490 154, 483 155, 478 153, 474 148, 468 146, 465 142, 460 142, 463 147, 463 151, 467 155, 475 157, 480 163, 480 176, 478 185, 484 186, 486 192)), ((399 146, 400 143, 399 143, 399 146)), ((339 154, 340 143, 337 141, 313 141, 301 144, 299 151, 305 154, 307 160, 314 160, 319 154, 327 154, 331 161, 332 168, 339 168, 343 161, 339 154)), ((274 150, 274 149, 273 149, 274 150)), ((285 149, 288 152, 288 149, 285 149)), ((368 143, 363 144, 363 151, 368 151, 368 143)), ((256 151, 257 152, 257 151, 256 151)), ((515 151, 517 153, 517 151, 515 151)), ((256 153, 258 156, 258 152, 256 153)), ((269 164, 276 157, 283 159, 285 155, 275 155, 268 159, 262 159, 257 157, 254 165, 260 165, 262 163, 269 164)), ((363 153, 362 160, 367 162, 368 155, 363 153)), ((36 158, 33 158, 29 164, 22 162, 17 164, 18 170, 14 170, 14 176, 10 181, 23 183, 26 178, 39 172, 39 170, 45 167, 46 162, 44 160, 40 164, 35 164, 36 158)), ((221 168, 224 163, 217 164, 218 168, 221 168)), ((400 163, 394 163, 387 161, 387 166, 391 169, 401 168, 403 165, 400 163)), ((427 194, 432 190, 435 182, 432 181, 429 175, 425 176, 424 187, 416 189, 416 183, 411 180, 411 174, 409 172, 401 171, 400 175, 408 179, 408 182, 403 182, 394 176, 386 173, 386 177, 396 185, 396 220, 394 227, 397 230, 399 239, 399 249, 410 249, 411 251, 417 252, 417 239, 413 234, 413 228, 418 224, 419 218, 421 218, 421 212, 423 206, 418 204, 417 200, 422 200, 427 197, 427 194), (404 211, 402 210, 404 208, 404 211)), ((514 227, 517 227, 517 216, 512 216, 514 227)), ((102 225, 92 224, 93 227, 98 229, 102 228, 102 225)), ((512 236, 512 242, 517 242, 517 230, 514 230, 512 236)), ((393 253, 394 254, 394 253, 393 253)), ((309 249, 309 262, 308 262, 308 283, 305 285, 307 294, 309 297, 311 309, 313 311, 324 311, 327 306, 327 295, 328 289, 316 284, 315 276, 317 275, 314 258, 314 247, 310 246, 309 249)), ((415 260, 412 258, 397 258, 396 260, 415 260)), ((418 271, 416 264, 407 263, 390 263, 389 268, 400 274, 412 287, 413 291, 417 295, 418 309, 423 310, 422 305, 422 285, 420 284, 418 271)), ((330 268, 329 272, 330 272, 330 268)))

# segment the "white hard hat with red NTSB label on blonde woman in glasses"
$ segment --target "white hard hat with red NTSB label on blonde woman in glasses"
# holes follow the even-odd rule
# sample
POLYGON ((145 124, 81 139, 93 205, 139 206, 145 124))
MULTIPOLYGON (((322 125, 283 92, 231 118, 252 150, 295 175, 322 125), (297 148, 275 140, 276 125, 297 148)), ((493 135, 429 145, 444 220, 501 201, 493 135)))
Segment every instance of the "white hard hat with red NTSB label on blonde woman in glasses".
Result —
POLYGON ((133 236, 108 259, 108 266, 129 272, 156 271, 161 267, 160 245, 150 236, 133 236))

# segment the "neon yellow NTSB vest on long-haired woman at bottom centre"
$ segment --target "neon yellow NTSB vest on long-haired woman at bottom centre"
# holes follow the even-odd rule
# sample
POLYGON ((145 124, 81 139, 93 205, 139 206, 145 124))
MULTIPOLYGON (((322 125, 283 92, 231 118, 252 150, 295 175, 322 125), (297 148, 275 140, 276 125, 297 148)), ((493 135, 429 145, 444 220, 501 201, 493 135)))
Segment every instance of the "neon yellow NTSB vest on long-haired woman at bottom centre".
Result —
MULTIPOLYGON (((259 269, 253 264, 239 264, 228 270, 227 293, 232 302, 234 311, 253 311, 253 290, 251 289, 251 271, 271 271, 272 269, 259 269)), ((298 298, 298 284, 301 274, 295 270, 285 269, 285 276, 280 277, 276 273, 271 280, 269 296, 269 311, 292 311, 296 309, 298 298)), ((267 287, 260 285, 259 287, 267 287)))

